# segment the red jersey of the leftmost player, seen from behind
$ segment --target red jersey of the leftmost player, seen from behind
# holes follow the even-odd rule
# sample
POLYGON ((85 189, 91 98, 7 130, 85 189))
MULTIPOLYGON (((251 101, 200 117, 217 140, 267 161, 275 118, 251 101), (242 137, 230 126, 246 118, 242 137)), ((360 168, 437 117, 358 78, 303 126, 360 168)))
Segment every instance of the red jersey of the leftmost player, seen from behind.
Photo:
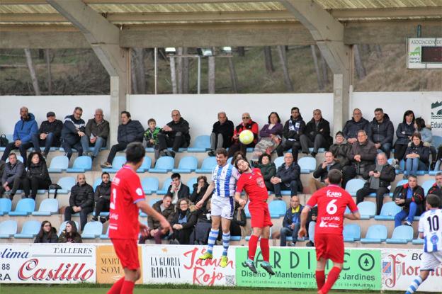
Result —
POLYGON ((123 166, 111 185, 109 237, 112 239, 138 239, 138 201, 145 200, 140 178, 130 166, 123 166))

